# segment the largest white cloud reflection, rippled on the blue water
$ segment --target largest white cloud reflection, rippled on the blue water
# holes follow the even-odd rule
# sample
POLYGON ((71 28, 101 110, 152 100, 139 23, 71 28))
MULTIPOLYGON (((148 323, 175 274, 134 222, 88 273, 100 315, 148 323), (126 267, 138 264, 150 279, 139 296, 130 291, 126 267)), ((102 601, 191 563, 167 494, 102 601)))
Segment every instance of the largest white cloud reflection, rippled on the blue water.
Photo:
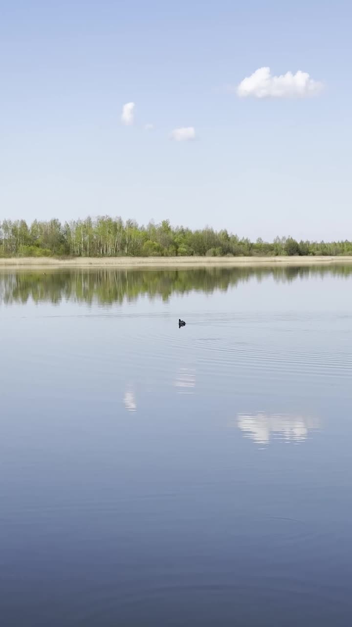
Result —
POLYGON ((269 444, 271 440, 301 442, 306 440, 309 431, 319 429, 316 418, 303 418, 290 414, 238 414, 237 426, 245 438, 258 444, 269 444))

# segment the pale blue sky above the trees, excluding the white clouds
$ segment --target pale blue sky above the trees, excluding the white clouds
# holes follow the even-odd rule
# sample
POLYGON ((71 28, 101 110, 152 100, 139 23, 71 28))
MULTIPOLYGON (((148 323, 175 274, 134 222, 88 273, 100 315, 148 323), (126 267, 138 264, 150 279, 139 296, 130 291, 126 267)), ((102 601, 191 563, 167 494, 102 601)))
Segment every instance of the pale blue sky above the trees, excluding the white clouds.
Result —
POLYGON ((352 237, 351 3, 0 4, 0 219, 352 237), (324 88, 239 97, 263 66, 324 88))

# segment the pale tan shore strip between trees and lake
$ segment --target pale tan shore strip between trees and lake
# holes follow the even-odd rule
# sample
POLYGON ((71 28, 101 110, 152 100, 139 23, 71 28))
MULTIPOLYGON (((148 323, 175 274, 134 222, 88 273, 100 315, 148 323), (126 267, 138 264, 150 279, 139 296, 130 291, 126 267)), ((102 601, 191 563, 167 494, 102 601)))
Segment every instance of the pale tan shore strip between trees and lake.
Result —
POLYGON ((352 256, 282 257, 22 257, 0 259, 0 268, 185 268, 210 266, 326 265, 352 263, 352 256))

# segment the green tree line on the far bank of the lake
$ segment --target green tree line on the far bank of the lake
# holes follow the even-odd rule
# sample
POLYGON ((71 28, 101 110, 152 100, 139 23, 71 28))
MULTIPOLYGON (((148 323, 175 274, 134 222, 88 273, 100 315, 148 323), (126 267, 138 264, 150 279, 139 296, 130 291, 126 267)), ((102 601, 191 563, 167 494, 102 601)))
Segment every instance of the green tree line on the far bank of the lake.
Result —
POLYGON ((122 218, 100 216, 61 223, 0 221, 0 256, 277 256, 352 255, 352 241, 296 241, 276 237, 267 242, 239 238, 226 229, 173 227, 168 220, 140 226, 122 218))

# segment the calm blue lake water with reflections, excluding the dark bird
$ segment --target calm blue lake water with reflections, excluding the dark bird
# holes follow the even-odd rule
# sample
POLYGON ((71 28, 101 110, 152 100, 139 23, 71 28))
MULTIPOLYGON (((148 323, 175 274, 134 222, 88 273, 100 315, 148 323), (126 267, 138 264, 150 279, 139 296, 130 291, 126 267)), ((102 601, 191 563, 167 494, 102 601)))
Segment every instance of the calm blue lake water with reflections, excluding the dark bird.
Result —
POLYGON ((352 265, 3 271, 0 338, 4 627, 351 624, 352 265))

